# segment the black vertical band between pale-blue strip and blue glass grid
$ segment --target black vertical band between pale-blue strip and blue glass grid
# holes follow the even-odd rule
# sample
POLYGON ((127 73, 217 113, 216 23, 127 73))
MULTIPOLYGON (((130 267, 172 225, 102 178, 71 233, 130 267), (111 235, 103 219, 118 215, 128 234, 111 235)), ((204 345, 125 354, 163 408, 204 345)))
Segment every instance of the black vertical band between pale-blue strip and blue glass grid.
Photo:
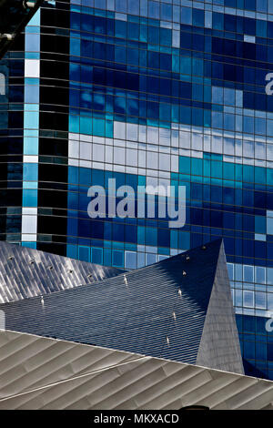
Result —
POLYGON ((41 9, 39 250, 66 255, 69 1, 41 9))

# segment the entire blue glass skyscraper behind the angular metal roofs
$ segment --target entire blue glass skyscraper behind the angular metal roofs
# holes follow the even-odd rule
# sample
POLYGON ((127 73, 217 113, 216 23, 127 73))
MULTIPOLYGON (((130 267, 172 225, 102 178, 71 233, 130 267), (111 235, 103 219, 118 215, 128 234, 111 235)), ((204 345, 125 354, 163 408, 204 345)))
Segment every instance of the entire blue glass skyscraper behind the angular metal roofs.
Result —
POLYGON ((246 372, 273 379, 270 73, 272 0, 46 2, 0 62, 0 239, 136 269, 222 237, 246 372), (109 178, 185 186, 185 226, 90 219, 109 178))

